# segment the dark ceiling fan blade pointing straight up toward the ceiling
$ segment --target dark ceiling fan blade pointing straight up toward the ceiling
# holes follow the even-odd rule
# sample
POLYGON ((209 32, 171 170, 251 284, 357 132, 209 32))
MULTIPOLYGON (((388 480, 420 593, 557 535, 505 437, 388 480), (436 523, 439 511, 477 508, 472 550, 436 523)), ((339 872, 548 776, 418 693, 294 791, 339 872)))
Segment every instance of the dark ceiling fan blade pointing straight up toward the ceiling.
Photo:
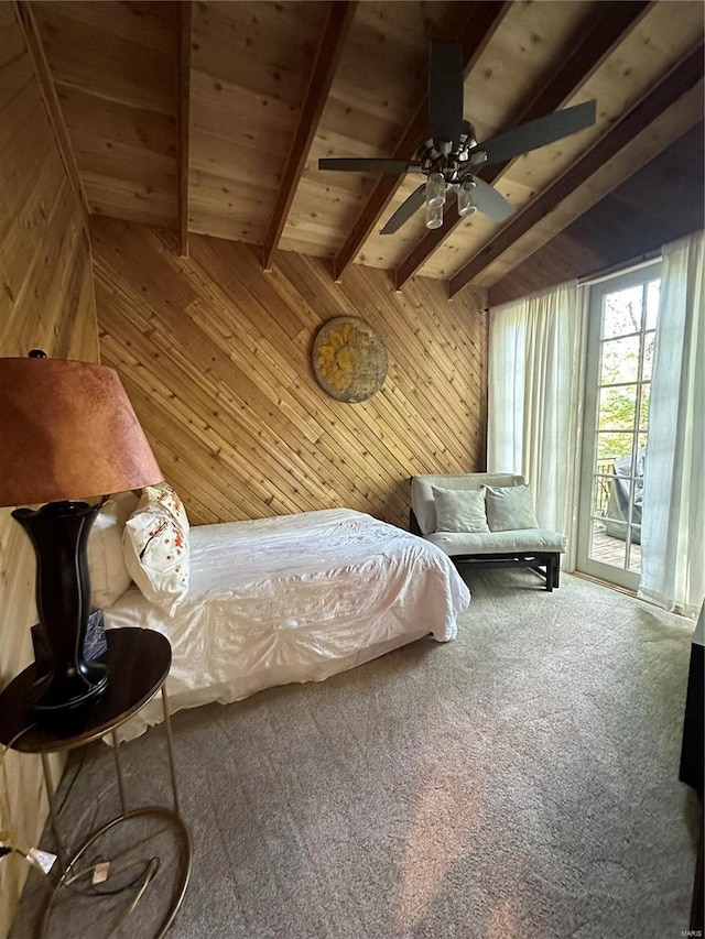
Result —
POLYGON ((462 43, 431 43, 429 58, 429 128, 442 153, 457 143, 463 130, 464 62, 462 43), (441 146, 448 144, 447 148, 441 146))

